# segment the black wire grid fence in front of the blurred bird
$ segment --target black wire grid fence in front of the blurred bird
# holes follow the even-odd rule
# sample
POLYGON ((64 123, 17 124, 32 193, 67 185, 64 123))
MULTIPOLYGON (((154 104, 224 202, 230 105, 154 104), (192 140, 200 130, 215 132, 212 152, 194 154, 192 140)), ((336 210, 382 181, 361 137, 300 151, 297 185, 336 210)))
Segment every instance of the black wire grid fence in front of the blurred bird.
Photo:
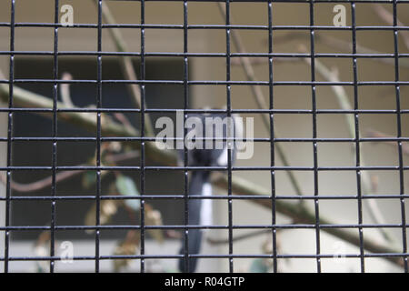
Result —
MULTIPOLYGON (((105 0, 106 1, 106 0, 105 0)), ((55 232, 61 230, 84 230, 84 229, 94 229, 95 230, 95 256, 75 256, 75 260, 95 260, 95 272, 99 271, 100 260, 104 259, 124 259, 124 258, 134 258, 140 260, 141 272, 145 272, 145 259, 148 258, 185 258, 185 267, 188 268, 189 257, 205 257, 205 258, 227 258, 229 260, 229 270, 234 271, 234 258, 242 257, 267 257, 274 261, 274 272, 277 271, 277 259, 285 257, 294 258, 315 258, 316 259, 316 270, 321 272, 321 258, 322 257, 332 257, 333 255, 321 254, 320 248, 320 231, 324 228, 357 228, 359 230, 359 254, 346 254, 345 257, 358 257, 360 258, 361 271, 364 272, 364 259, 367 257, 402 257, 404 260, 404 271, 408 272, 408 261, 407 261, 407 239, 406 239, 406 217, 405 217, 405 204, 404 199, 409 197, 405 194, 404 189, 404 171, 409 169, 409 166, 404 166, 403 159, 403 148, 402 142, 408 142, 409 137, 404 137, 402 135, 402 115, 408 114, 409 110, 401 109, 401 95, 400 87, 402 85, 409 85, 409 81, 401 80, 399 77, 399 60, 401 58, 409 57, 409 54, 400 54, 398 51, 398 32, 402 30, 409 30, 407 26, 399 26, 397 24, 397 11, 399 4, 408 4, 409 1, 406 0, 394 0, 394 1, 325 1, 325 0, 311 0, 311 1, 288 1, 288 0, 268 0, 261 1, 265 2, 267 13, 268 13, 268 25, 231 25, 230 23, 230 5, 232 2, 230 0, 225 0, 226 8, 226 19, 225 25, 189 25, 187 21, 188 15, 188 1, 183 2, 184 6, 184 24, 183 25, 152 25, 145 24, 145 0, 127 0, 127 1, 138 1, 140 2, 140 12, 141 12, 141 23, 132 25, 107 25, 103 24, 102 21, 102 0, 98 0, 98 23, 93 24, 74 24, 74 28, 95 28, 97 29, 97 39, 96 51, 60 51, 58 49, 58 30, 62 27, 59 24, 59 8, 60 1, 55 0, 55 23, 16 23, 15 22, 15 0, 10 0, 10 22, 0 23, 0 26, 5 26, 10 28, 10 50, 0 52, 0 55, 9 55, 9 79, 0 80, 0 83, 9 85, 9 102, 7 108, 0 108, 0 112, 8 113, 8 123, 7 123, 7 136, 0 137, 0 142, 5 142, 7 145, 7 156, 6 156, 6 166, 0 167, 1 171, 6 173, 6 189, 5 197, 1 197, 0 201, 5 201, 5 226, 1 226, 0 230, 5 231, 5 253, 4 256, 0 257, 0 260, 4 262, 5 272, 9 270, 9 262, 17 260, 45 260, 50 262, 50 272, 55 270, 55 260, 61 259, 55 256, 55 232), (310 24, 309 25, 274 25, 273 19, 273 9, 274 3, 308 3, 309 13, 310 13, 310 24), (314 24, 314 6, 321 3, 344 3, 351 5, 351 17, 352 25, 344 27, 334 27, 334 26, 324 26, 314 24), (356 13, 355 4, 360 3, 382 3, 393 5, 394 13, 394 25, 374 25, 374 26, 357 26, 356 25, 356 13), (54 27, 54 51, 16 51, 15 50, 15 28, 16 27, 54 27), (130 28, 130 29, 140 29, 141 31, 141 51, 138 52, 105 52, 102 49, 102 32, 104 29, 117 27, 117 28, 130 28), (145 52, 145 29, 182 29, 184 31, 184 52, 182 53, 155 53, 155 52, 145 52), (225 53, 189 53, 188 51, 188 32, 193 29, 224 29, 226 47, 225 53), (231 52, 231 31, 232 29, 238 30, 264 30, 268 31, 268 53, 232 53, 231 52), (274 31, 278 30, 306 30, 310 33, 310 53, 308 54, 277 54, 274 53, 274 31), (350 31, 352 34, 352 54, 319 54, 315 53, 314 48, 314 33, 317 30, 345 30, 350 31), (392 30, 394 32, 394 53, 393 54, 358 54, 356 50, 356 32, 361 30, 392 30), (53 67, 53 79, 15 79, 15 55, 52 55, 54 58, 53 67), (58 57, 61 55, 92 55, 97 57, 97 78, 95 80, 73 80, 66 81, 58 78, 58 57), (102 78, 102 57, 104 55, 127 55, 139 57, 141 60, 140 80, 103 80, 102 78), (184 59, 184 79, 183 80, 145 80, 145 59, 146 57, 152 56, 169 56, 169 57, 183 57, 184 59), (254 57, 264 57, 268 59, 269 68, 269 80, 268 81, 234 81, 231 79, 231 59, 233 57, 243 57, 243 56, 254 56, 254 57), (192 81, 188 79, 188 61, 190 57, 225 57, 226 61, 226 75, 225 80, 216 81, 192 81), (276 81, 274 80, 274 57, 306 57, 311 59, 311 81, 276 81), (352 82, 321 82, 315 79, 315 59, 316 58, 326 58, 326 57, 339 57, 348 58, 353 61, 354 70, 354 80, 352 82), (358 58, 393 58, 394 59, 394 81, 360 81, 357 75, 357 59, 358 58), (14 86, 18 84, 26 83, 36 83, 36 84, 52 84, 53 85, 53 108, 17 108, 14 105, 14 86), (57 94, 58 86, 64 83, 69 84, 95 84, 97 85, 97 95, 95 96, 96 108, 69 108, 63 109, 57 107, 57 94), (104 84, 138 84, 141 88, 141 108, 125 109, 125 108, 102 108, 102 85, 104 84), (231 156, 229 156, 228 166, 213 166, 213 167, 198 167, 198 166, 188 166, 187 161, 187 149, 185 148, 185 165, 184 166, 145 166, 145 142, 155 141, 155 137, 145 136, 145 114, 148 113, 170 113, 175 112, 175 109, 161 108, 161 109, 150 109, 145 107, 145 85, 150 84, 178 84, 184 85, 184 119, 187 118, 188 113, 220 113, 224 112, 228 116, 234 113, 252 113, 252 114, 268 114, 270 118, 270 137, 269 138, 254 138, 254 142, 268 142, 270 143, 271 151, 271 166, 232 166, 231 156), (188 96, 189 96, 189 85, 225 85, 226 87, 226 110, 213 110, 213 109, 189 109, 188 96), (231 85, 265 85, 269 87, 269 108, 268 109, 233 109, 231 103, 231 85), (312 92, 312 109, 275 109, 274 108, 274 86, 278 85, 309 85, 311 86, 312 92), (317 109, 316 106, 316 87, 318 85, 349 85, 354 88, 354 110, 338 110, 338 109, 317 109), (358 88, 363 85, 394 85, 395 96, 396 96, 396 109, 394 110, 364 110, 358 107, 358 88), (52 127, 52 137, 14 137, 13 136, 13 115, 15 112, 44 112, 53 114, 53 127, 52 127), (58 137, 57 136, 57 114, 62 112, 89 112, 96 114, 97 126, 96 126, 96 137, 58 137), (133 112, 140 113, 141 122, 141 135, 135 137, 104 137, 102 136, 102 125, 101 125, 101 114, 102 113, 113 113, 113 112, 133 112), (355 138, 319 138, 317 136, 317 120, 316 117, 319 114, 348 114, 354 115, 354 131, 355 138), (312 138, 275 138, 274 137, 274 115, 277 114, 301 114, 301 115, 312 115, 313 116, 313 137, 312 138), (388 138, 368 138, 359 137, 359 116, 361 114, 394 114, 396 116, 397 122, 397 135, 395 137, 388 138), (12 162, 12 145, 15 141, 52 141, 52 166, 13 166, 12 162), (95 166, 57 166, 56 165, 56 155, 57 155, 57 144, 60 141, 87 141, 95 142, 96 146, 96 164, 95 166), (141 143, 141 164, 140 166, 101 166, 101 145, 104 142, 110 141, 138 141, 141 143), (389 141, 395 142, 398 147, 399 156, 399 166, 361 166, 360 162, 360 144, 364 142, 373 141, 389 141), (275 166, 274 161, 274 143, 291 143, 291 142, 304 142, 312 143, 314 146, 314 166, 275 166), (318 143, 325 142, 340 142, 340 143, 354 143, 356 149, 355 156, 355 166, 318 166, 318 143), (19 170, 49 170, 52 172, 52 191, 51 196, 12 196, 11 195, 11 176, 14 171, 19 170), (56 181, 55 175, 57 171, 66 170, 95 170, 96 171, 96 192, 93 196, 56 196, 56 181), (122 171, 140 171, 141 181, 140 181, 140 196, 101 196, 101 171, 105 170, 122 170, 122 171), (148 196, 145 195, 145 171, 160 171, 160 170, 183 170, 185 173, 184 187, 185 192, 183 195, 177 196, 148 196), (188 196, 187 185, 188 185, 188 172, 191 170, 214 170, 214 171, 224 171, 228 176, 228 189, 227 196, 210 196, 210 197, 198 197, 198 196, 188 196), (271 173, 271 195, 268 196, 233 196, 232 191, 232 172, 233 171, 243 171, 243 170, 262 170, 269 171, 271 173), (398 171, 399 172, 399 194, 397 195, 365 195, 362 194, 361 186, 361 173, 367 170, 388 170, 388 171, 398 171), (277 171, 312 171, 314 173, 314 196, 277 196, 275 191, 275 174, 277 171), (356 173, 356 196, 324 196, 319 194, 318 189, 318 173, 320 171, 355 171, 356 173), (185 201, 185 226, 145 226, 145 199, 167 199, 167 198, 177 198, 184 199, 185 201), (224 199, 228 201, 228 226, 189 226, 188 222, 188 200, 189 199, 224 199), (388 224, 388 225, 376 225, 376 224, 364 224, 363 223, 363 209, 362 202, 364 199, 369 198, 396 198, 400 201, 401 212, 402 212, 402 222, 401 224, 388 224), (55 203, 58 200, 67 199, 81 199, 81 200, 95 200, 96 202, 96 216, 95 216, 95 226, 56 226, 55 225, 55 203), (141 225, 140 226, 102 226, 100 224, 100 203, 103 199, 140 199, 141 201, 141 225), (265 225, 254 225, 254 226, 236 226, 233 223, 233 200, 234 199, 268 199, 272 202, 272 224, 270 226, 265 225), (276 201, 279 199, 304 199, 314 201, 314 214, 315 214, 315 224, 297 224, 297 225, 277 225, 276 223, 276 201), (319 201, 321 199, 356 199, 358 202, 358 224, 352 225, 323 225, 320 223, 319 215, 319 201), (11 202, 14 200, 49 200, 51 202, 51 226, 12 226, 10 221, 10 209, 11 202), (376 227, 391 227, 391 228, 402 228, 402 252, 396 254, 368 254, 364 252, 364 228, 376 228, 376 227), (145 254, 145 230, 146 229, 183 229, 185 230, 185 253, 183 255, 146 255, 145 254), (187 240, 189 229, 194 228, 210 228, 210 229, 227 229, 228 230, 228 255, 191 255, 188 253, 187 240), (272 255, 236 255, 234 254, 234 244, 233 244, 233 230, 234 229, 258 229, 266 228, 272 230, 273 236, 273 254, 272 255), (315 230, 315 255, 279 255, 277 254, 277 229, 285 228, 306 228, 315 230), (51 232, 51 248, 50 256, 42 257, 24 257, 24 256, 10 256, 10 233, 16 230, 48 230, 51 232), (109 229, 139 229, 141 233, 141 246, 140 255, 135 256, 101 256, 100 255, 100 230, 109 229)), ((191 1, 189 1, 191 2, 191 1)), ((206 1, 205 1, 206 2, 206 1)), ((207 0, 211 2, 211 0, 207 0)), ((248 1, 251 2, 251 1, 248 1)), ((185 130, 186 135, 186 130, 185 130)), ((230 151, 230 150, 229 150, 230 151)))

